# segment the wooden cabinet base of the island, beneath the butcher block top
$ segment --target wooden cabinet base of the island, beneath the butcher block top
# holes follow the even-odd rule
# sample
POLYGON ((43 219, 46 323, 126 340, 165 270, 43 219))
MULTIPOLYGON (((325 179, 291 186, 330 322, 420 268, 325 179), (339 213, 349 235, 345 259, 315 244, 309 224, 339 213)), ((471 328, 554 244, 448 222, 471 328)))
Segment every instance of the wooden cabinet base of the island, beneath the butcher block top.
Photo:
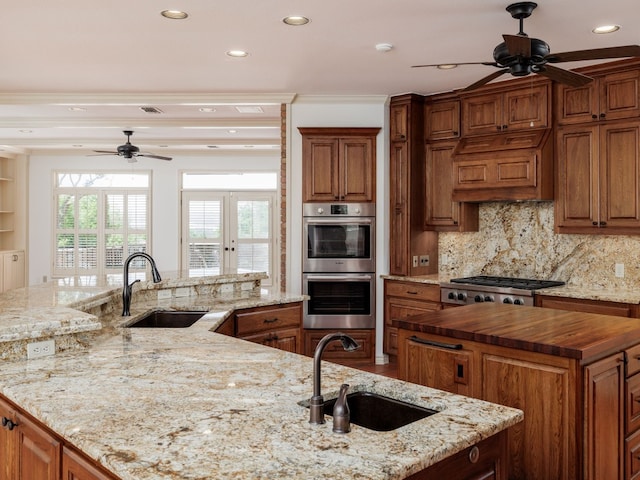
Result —
MULTIPOLYGON (((622 353, 583 366, 573 358, 404 329, 398 341, 399 379, 457 392, 455 374, 464 359, 466 395, 524 411, 524 421, 508 430, 508 478, 623 478, 622 353), (431 343, 421 347, 416 338, 431 343)), ((627 431, 628 451, 638 450, 633 433, 627 431)))

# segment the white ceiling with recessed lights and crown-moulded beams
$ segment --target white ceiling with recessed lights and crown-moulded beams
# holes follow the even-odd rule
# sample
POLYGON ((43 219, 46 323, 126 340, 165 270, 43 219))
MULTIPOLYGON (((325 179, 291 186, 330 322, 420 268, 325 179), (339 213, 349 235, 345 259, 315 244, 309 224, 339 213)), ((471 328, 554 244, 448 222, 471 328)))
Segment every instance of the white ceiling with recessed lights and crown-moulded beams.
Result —
MULTIPOLYGON (((492 73, 493 67, 482 65, 411 66, 492 61, 501 35, 518 32, 508 3, 7 2, 0 19, 0 149, 111 150, 124 143, 124 129, 135 130, 134 144, 160 155, 277 149, 280 104, 296 95, 429 94, 492 73), (168 20, 160 15, 164 9, 189 17, 168 20), (282 22, 287 15, 311 22, 288 26, 282 22), (393 48, 380 52, 380 43, 393 48), (230 58, 225 52, 231 49, 249 55, 230 58), (239 105, 260 106, 262 112, 240 113, 239 105), (145 113, 143 106, 162 113, 145 113)), ((637 0, 540 0, 524 30, 552 52, 640 44, 640 8, 637 0), (591 33, 603 23, 622 28, 591 33)))

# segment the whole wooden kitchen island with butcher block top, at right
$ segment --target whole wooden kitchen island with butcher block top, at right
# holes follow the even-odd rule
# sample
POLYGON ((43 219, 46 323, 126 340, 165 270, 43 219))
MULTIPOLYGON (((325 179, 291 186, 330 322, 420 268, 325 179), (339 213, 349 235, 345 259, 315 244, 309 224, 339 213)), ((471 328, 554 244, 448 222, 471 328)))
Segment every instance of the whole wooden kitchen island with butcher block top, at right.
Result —
POLYGON ((637 319, 482 303, 393 325, 399 378, 525 412, 510 479, 636 478, 637 319))

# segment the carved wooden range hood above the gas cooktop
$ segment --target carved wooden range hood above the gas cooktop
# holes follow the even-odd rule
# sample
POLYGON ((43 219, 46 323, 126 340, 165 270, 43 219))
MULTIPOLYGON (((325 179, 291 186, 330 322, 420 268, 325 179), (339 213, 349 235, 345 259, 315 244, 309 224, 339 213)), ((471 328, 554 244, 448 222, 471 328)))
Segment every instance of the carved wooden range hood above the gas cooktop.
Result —
POLYGON ((553 200, 550 128, 470 136, 453 153, 457 202, 553 200))

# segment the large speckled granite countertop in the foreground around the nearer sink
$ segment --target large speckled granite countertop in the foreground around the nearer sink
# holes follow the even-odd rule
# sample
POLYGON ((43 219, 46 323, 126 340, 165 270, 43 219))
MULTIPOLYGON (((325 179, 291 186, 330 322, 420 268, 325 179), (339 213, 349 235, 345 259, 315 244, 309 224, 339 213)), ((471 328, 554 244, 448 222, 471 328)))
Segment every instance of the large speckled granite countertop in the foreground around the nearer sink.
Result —
POLYGON ((312 359, 209 331, 124 329, 7 362, 0 392, 123 479, 401 479, 521 420, 519 410, 322 362, 342 383, 439 413, 391 432, 310 425, 312 359))

